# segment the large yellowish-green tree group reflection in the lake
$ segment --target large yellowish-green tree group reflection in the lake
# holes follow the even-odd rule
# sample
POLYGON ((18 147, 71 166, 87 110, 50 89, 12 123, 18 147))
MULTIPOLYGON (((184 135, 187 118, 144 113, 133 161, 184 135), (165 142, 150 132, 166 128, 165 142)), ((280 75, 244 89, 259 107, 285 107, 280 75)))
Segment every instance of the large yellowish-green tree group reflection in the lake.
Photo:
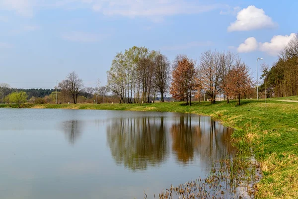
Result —
POLYGON ((164 118, 115 118, 107 125, 113 158, 132 170, 145 170, 164 161, 167 139, 164 118))

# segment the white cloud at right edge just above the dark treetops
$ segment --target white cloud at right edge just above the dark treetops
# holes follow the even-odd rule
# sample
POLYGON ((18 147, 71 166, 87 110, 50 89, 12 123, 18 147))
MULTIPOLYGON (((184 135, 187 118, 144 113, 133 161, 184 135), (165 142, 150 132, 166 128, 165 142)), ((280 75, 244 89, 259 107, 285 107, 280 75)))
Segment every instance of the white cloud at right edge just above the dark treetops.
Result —
POLYGON ((270 42, 259 43, 259 50, 267 52, 269 55, 276 56, 279 52, 295 38, 296 34, 292 33, 290 35, 276 35, 273 36, 270 42))

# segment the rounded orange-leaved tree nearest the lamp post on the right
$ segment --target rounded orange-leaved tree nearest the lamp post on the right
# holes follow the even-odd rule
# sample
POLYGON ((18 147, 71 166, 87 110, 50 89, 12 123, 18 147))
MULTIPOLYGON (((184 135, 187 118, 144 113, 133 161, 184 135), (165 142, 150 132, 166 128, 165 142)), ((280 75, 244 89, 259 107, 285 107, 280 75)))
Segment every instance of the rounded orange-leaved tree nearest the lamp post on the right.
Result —
POLYGON ((252 81, 249 69, 244 63, 234 66, 227 74, 226 91, 230 96, 238 97, 238 105, 240 105, 240 97, 249 92, 252 87, 252 81))

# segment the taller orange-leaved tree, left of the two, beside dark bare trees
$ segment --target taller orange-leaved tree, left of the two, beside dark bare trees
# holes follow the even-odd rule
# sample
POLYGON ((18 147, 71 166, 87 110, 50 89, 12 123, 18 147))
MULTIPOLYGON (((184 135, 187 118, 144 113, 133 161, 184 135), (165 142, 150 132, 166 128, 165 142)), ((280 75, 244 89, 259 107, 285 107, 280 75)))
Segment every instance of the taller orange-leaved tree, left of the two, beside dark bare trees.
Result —
POLYGON ((195 62, 186 56, 178 61, 177 66, 172 72, 172 84, 170 94, 176 100, 186 100, 191 105, 191 97, 197 88, 197 72, 195 62))

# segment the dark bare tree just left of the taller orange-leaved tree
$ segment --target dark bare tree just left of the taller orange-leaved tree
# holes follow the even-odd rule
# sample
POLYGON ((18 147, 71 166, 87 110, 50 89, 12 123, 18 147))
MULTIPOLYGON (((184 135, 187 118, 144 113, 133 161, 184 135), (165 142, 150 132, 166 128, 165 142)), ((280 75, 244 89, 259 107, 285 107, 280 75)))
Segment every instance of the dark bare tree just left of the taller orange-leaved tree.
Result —
POLYGON ((156 91, 160 93, 164 102, 163 94, 167 92, 170 82, 170 61, 166 56, 158 54, 154 59, 153 84, 156 91))

